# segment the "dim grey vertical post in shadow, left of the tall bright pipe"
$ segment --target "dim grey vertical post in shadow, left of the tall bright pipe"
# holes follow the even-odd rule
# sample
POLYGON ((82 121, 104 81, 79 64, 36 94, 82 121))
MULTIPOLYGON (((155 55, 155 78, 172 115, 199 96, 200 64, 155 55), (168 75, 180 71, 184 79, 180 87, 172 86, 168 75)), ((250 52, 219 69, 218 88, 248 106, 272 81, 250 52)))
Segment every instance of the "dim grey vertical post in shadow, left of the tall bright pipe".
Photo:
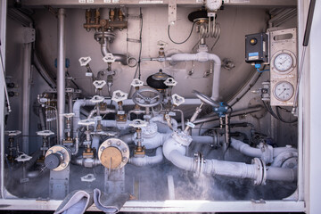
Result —
POLYGON ((23 45, 22 66, 22 151, 29 153, 31 43, 23 45))

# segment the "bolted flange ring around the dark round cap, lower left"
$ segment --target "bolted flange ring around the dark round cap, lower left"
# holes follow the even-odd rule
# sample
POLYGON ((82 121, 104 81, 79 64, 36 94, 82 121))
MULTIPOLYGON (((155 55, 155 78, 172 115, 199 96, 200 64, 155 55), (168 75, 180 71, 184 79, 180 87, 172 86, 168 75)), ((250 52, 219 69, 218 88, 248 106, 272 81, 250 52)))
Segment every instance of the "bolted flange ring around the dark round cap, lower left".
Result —
POLYGON ((71 160, 70 150, 63 145, 53 145, 53 147, 51 147, 47 152, 45 152, 45 157, 53 153, 57 153, 62 157, 59 166, 53 169, 53 171, 62 171, 63 169, 66 169, 70 164, 71 160))

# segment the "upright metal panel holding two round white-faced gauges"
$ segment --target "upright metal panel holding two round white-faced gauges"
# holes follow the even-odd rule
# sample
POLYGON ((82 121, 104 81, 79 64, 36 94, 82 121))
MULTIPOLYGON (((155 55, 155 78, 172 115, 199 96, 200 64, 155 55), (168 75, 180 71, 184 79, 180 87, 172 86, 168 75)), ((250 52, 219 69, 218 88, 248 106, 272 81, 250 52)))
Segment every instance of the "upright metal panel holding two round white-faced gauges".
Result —
POLYGON ((272 106, 292 106, 297 85, 297 30, 270 32, 272 106))

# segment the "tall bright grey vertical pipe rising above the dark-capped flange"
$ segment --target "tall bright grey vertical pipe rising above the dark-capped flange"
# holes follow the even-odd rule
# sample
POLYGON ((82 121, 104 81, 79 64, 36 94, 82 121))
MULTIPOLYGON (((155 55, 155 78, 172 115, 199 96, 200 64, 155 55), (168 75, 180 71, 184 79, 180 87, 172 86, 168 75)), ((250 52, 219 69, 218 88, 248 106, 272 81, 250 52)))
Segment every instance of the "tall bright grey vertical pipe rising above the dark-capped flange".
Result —
POLYGON ((65 41, 65 9, 58 11, 58 57, 57 57, 57 96, 58 96, 58 137, 59 144, 62 144, 64 137, 64 117, 65 112, 65 58, 66 58, 66 41, 65 41))

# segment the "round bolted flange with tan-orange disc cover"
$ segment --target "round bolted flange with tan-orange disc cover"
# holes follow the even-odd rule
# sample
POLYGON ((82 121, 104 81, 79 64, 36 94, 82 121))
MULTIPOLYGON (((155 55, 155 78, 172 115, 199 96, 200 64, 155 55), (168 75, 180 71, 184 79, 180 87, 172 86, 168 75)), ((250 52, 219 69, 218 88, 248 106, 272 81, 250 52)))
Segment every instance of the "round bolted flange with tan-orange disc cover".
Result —
POLYGON ((99 161, 107 169, 121 169, 129 160, 129 147, 118 138, 110 138, 99 146, 99 161))

